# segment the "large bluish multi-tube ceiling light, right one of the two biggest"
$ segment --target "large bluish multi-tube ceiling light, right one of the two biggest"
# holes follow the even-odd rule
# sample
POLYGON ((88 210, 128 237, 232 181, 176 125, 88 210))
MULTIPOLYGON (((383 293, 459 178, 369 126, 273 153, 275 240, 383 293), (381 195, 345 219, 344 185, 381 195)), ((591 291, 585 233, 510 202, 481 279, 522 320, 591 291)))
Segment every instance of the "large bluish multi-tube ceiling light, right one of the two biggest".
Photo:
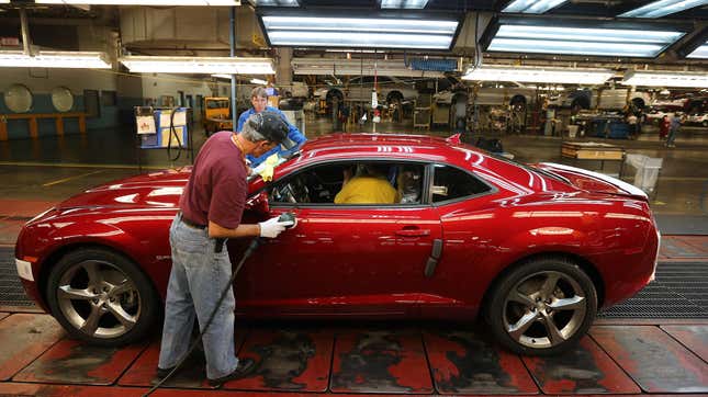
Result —
POLYGON ((655 57, 685 33, 502 24, 491 52, 655 57))

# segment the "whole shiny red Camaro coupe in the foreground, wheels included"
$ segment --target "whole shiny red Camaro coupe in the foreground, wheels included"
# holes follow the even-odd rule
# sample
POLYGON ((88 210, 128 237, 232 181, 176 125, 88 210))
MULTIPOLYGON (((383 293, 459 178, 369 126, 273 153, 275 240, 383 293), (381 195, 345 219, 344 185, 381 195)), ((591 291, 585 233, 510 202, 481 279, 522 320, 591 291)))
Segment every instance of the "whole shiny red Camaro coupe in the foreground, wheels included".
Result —
MULTIPOLYGON (((31 222, 15 248, 26 292, 80 339, 134 341, 159 319, 169 225, 190 168, 78 194, 31 222)), ((652 279, 660 236, 647 195, 603 174, 526 166, 441 138, 336 134, 250 181, 244 222, 284 212, 236 283, 251 318, 485 319, 508 349, 552 354, 599 307, 652 279), (394 202, 335 203, 373 165, 394 202)), ((237 263, 248 240, 228 241, 237 263)))

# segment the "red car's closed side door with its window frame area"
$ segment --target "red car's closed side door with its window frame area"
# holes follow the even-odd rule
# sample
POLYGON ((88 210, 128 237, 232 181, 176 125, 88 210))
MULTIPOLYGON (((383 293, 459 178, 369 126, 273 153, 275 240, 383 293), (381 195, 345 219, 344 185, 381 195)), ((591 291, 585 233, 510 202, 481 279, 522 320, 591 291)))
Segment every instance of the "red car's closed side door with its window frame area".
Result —
MULTIPOLYGON (((313 166, 283 178, 271 190, 270 216, 293 212, 297 225, 263 241, 247 262, 241 284, 236 285, 239 309, 257 316, 416 311, 426 264, 434 246, 441 242, 440 219, 422 202, 425 168, 408 166, 420 172, 417 200, 338 205, 333 202, 342 179, 337 167, 347 165, 313 166), (280 193, 289 185, 297 200, 280 193), (303 186, 311 197, 303 198, 303 186)), ((401 178, 395 179, 403 188, 401 178)))

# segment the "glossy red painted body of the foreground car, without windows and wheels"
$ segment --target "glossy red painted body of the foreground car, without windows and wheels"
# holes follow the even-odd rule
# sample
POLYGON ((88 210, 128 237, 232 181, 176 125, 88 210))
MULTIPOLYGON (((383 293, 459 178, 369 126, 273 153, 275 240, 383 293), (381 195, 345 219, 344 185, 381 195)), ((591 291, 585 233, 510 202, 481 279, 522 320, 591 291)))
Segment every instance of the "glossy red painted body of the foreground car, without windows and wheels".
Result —
MULTIPOLYGON (((133 263, 149 285, 142 290, 143 304, 157 300, 153 304, 159 307, 171 268, 169 227, 190 171, 186 167, 108 183, 30 220, 15 248, 18 263, 24 264, 24 269, 18 266, 27 294, 55 317, 76 315, 63 311, 66 305, 49 304, 58 281, 66 279, 53 276, 53 269, 72 252, 98 249, 133 263)), ((565 276, 566 291, 563 295, 559 284, 552 299, 576 291, 585 299, 596 299, 595 307, 609 307, 652 280, 660 241, 647 196, 621 181, 561 165, 520 165, 464 144, 416 135, 334 134, 307 141, 299 156, 276 169, 273 182, 250 181, 243 222, 285 212, 296 215, 297 225, 278 238, 263 239, 245 262, 234 288, 237 315, 471 321, 491 305, 499 306, 495 299, 509 300, 495 295, 505 277, 522 272, 524 266, 542 270, 548 259, 570 263, 594 290, 593 294, 588 287, 578 290, 575 273, 561 272, 560 280, 571 274, 565 276), (280 181, 319 166, 352 161, 419 167, 419 201, 334 205, 276 202, 271 196, 270 203, 263 203, 280 181), (457 169, 488 189, 451 200, 434 198, 439 190, 434 173, 440 167, 457 169)), ((240 260, 248 242, 228 241, 233 263, 240 260)), ((519 275, 519 283, 541 273, 533 274, 519 275)), ((521 310, 528 314, 536 308, 521 310)), ((594 318, 595 308, 587 311, 594 318)), ((85 324, 78 313, 78 324, 85 324)), ((513 325, 506 328, 513 333, 513 325)), ((574 328, 582 327, 575 324, 574 328)), ((522 342, 519 334, 514 338, 522 342)), ((528 348, 529 343, 517 344, 528 348)))

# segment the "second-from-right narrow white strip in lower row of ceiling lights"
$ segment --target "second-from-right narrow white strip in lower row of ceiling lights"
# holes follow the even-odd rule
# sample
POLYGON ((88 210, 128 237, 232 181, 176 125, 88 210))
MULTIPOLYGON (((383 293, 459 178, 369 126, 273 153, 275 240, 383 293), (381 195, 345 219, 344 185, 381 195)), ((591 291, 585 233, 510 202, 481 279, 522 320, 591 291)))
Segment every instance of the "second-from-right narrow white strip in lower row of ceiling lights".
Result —
POLYGON ((615 72, 609 69, 483 66, 469 70, 463 80, 602 84, 615 72))

